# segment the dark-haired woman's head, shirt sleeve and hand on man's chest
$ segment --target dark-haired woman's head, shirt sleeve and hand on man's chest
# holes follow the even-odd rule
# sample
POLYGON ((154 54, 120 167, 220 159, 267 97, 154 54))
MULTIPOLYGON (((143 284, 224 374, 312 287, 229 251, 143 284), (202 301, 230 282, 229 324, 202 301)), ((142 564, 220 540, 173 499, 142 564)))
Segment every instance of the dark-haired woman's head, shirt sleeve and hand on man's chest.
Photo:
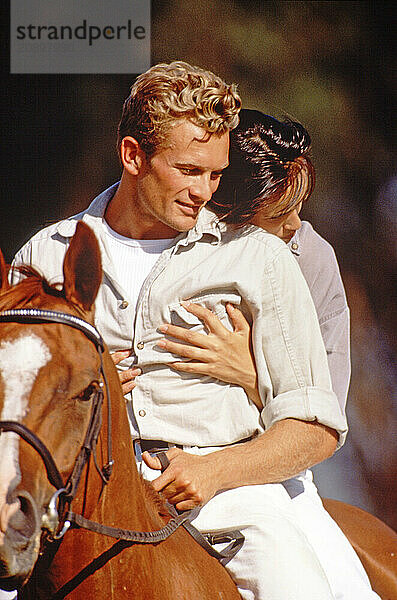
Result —
MULTIPOLYGON (((346 295, 332 246, 310 223, 302 223, 299 218, 302 204, 314 186, 310 136, 299 123, 280 122, 254 110, 242 110, 240 114, 240 124, 231 134, 230 166, 208 206, 234 227, 253 224, 289 245, 312 294, 332 387, 345 412, 350 379, 346 295)), ((185 329, 168 330, 172 337, 196 346, 165 341, 168 350, 194 361, 172 366, 242 385, 260 408, 254 363, 247 352, 249 326, 241 312, 228 306, 234 325, 234 332, 229 332, 205 308, 190 304, 188 310, 205 321, 210 335, 190 332, 187 340, 185 329)))

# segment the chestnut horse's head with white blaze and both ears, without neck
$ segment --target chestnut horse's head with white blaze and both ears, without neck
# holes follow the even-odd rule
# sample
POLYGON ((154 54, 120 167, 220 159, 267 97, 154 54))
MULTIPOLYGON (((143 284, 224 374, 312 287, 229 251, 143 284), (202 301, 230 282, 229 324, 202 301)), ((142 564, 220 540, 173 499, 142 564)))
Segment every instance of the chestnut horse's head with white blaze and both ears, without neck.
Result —
MULTIPOLYGON (((33 270, 10 286, 0 252, 0 312, 46 309, 93 321, 102 270, 97 241, 79 222, 65 255, 62 290, 33 270)), ((0 421, 22 424, 49 450, 66 482, 83 445, 91 400, 100 385, 100 356, 74 327, 0 322, 0 421)), ((22 436, 23 437, 23 436, 22 436)), ((14 431, 0 433, 0 588, 29 576, 48 527, 54 494, 40 454, 14 431)))

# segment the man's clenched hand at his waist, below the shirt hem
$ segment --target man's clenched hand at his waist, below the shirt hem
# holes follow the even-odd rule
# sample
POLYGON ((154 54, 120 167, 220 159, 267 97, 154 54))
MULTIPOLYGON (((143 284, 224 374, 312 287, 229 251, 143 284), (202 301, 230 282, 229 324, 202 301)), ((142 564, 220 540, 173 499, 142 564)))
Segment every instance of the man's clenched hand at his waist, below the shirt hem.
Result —
MULTIPOLYGON (((178 510, 190 510, 206 504, 218 491, 215 476, 217 452, 197 456, 171 448, 166 454, 170 464, 160 477, 152 481, 154 489, 178 510)), ((161 469, 156 456, 144 452, 142 458, 151 469, 161 469)))

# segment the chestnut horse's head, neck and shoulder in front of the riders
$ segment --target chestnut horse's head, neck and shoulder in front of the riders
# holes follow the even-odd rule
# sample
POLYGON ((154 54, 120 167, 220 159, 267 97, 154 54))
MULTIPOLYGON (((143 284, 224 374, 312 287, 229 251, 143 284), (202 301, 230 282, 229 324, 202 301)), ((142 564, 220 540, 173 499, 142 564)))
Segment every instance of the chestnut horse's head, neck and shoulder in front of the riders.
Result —
POLYGON ((138 474, 119 378, 93 326, 94 234, 78 224, 61 290, 22 271, 10 286, 1 255, 0 589, 20 600, 237 600, 227 570, 138 474), (167 527, 163 541, 140 533, 167 527))

